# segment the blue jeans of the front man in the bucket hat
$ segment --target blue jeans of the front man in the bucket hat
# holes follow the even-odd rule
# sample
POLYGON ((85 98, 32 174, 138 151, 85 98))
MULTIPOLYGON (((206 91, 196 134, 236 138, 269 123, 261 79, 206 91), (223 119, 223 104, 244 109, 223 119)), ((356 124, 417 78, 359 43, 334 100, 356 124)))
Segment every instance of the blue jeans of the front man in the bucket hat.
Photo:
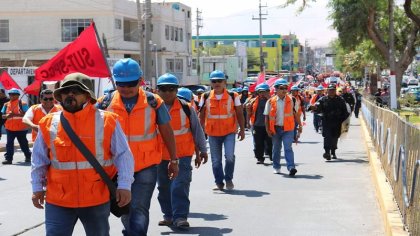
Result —
POLYGON ((68 208, 45 204, 47 236, 71 236, 77 220, 83 224, 86 235, 109 235, 109 202, 82 208, 68 208))

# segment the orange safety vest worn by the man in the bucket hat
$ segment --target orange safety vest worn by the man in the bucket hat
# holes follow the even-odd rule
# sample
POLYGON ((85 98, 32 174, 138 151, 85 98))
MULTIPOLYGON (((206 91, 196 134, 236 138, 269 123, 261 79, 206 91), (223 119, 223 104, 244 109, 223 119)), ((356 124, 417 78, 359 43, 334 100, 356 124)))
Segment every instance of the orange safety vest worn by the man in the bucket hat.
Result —
MULTIPOLYGON (((67 136, 60 122, 62 112, 50 113, 39 123, 49 150, 46 201, 62 207, 90 207, 109 201, 107 185, 67 136)), ((81 111, 63 111, 74 132, 112 178, 116 174, 111 137, 117 116, 86 105, 81 111)))

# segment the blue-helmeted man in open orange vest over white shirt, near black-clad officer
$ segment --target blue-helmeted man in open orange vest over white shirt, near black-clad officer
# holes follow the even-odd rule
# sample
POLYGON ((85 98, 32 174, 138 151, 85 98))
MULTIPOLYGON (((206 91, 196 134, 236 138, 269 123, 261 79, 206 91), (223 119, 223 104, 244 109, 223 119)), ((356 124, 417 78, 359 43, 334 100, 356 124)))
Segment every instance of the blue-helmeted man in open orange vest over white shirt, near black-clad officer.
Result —
POLYGON ((284 159, 286 160, 289 176, 297 172, 294 153, 292 149, 295 122, 299 133, 302 132, 302 123, 298 116, 299 106, 296 99, 287 95, 289 83, 285 79, 274 82, 276 96, 271 97, 265 105, 265 127, 268 136, 273 141, 273 168, 274 174, 280 174, 280 152, 284 146, 284 159))

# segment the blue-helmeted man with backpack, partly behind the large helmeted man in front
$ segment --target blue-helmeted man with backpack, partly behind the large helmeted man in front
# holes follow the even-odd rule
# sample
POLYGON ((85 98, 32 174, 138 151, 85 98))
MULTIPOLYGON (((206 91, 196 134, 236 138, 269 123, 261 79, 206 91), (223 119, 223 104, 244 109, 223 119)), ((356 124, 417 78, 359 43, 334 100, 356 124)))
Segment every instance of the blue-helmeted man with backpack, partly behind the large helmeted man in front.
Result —
POLYGON ((178 79, 172 74, 164 74, 157 80, 158 94, 171 115, 171 126, 176 140, 176 156, 179 158, 179 174, 171 180, 168 178, 170 156, 167 148, 162 144, 162 162, 158 166, 158 200, 163 220, 159 221, 159 225, 174 225, 186 229, 190 227, 187 219, 190 212, 191 159, 197 146, 199 154, 195 159, 196 168, 202 161, 203 164, 206 163, 207 148, 195 109, 190 103, 177 98, 178 86, 178 79))

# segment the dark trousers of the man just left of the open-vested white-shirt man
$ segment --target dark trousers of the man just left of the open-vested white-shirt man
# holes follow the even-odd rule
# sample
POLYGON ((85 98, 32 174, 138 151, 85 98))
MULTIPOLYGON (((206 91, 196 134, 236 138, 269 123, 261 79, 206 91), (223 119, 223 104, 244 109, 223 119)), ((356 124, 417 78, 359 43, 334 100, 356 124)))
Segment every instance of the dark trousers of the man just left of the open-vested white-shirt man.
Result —
POLYGON ((268 136, 265 126, 254 126, 252 127, 252 136, 254 138, 254 154, 258 160, 264 160, 264 150, 268 153, 268 156, 272 156, 273 143, 271 138, 268 136))

